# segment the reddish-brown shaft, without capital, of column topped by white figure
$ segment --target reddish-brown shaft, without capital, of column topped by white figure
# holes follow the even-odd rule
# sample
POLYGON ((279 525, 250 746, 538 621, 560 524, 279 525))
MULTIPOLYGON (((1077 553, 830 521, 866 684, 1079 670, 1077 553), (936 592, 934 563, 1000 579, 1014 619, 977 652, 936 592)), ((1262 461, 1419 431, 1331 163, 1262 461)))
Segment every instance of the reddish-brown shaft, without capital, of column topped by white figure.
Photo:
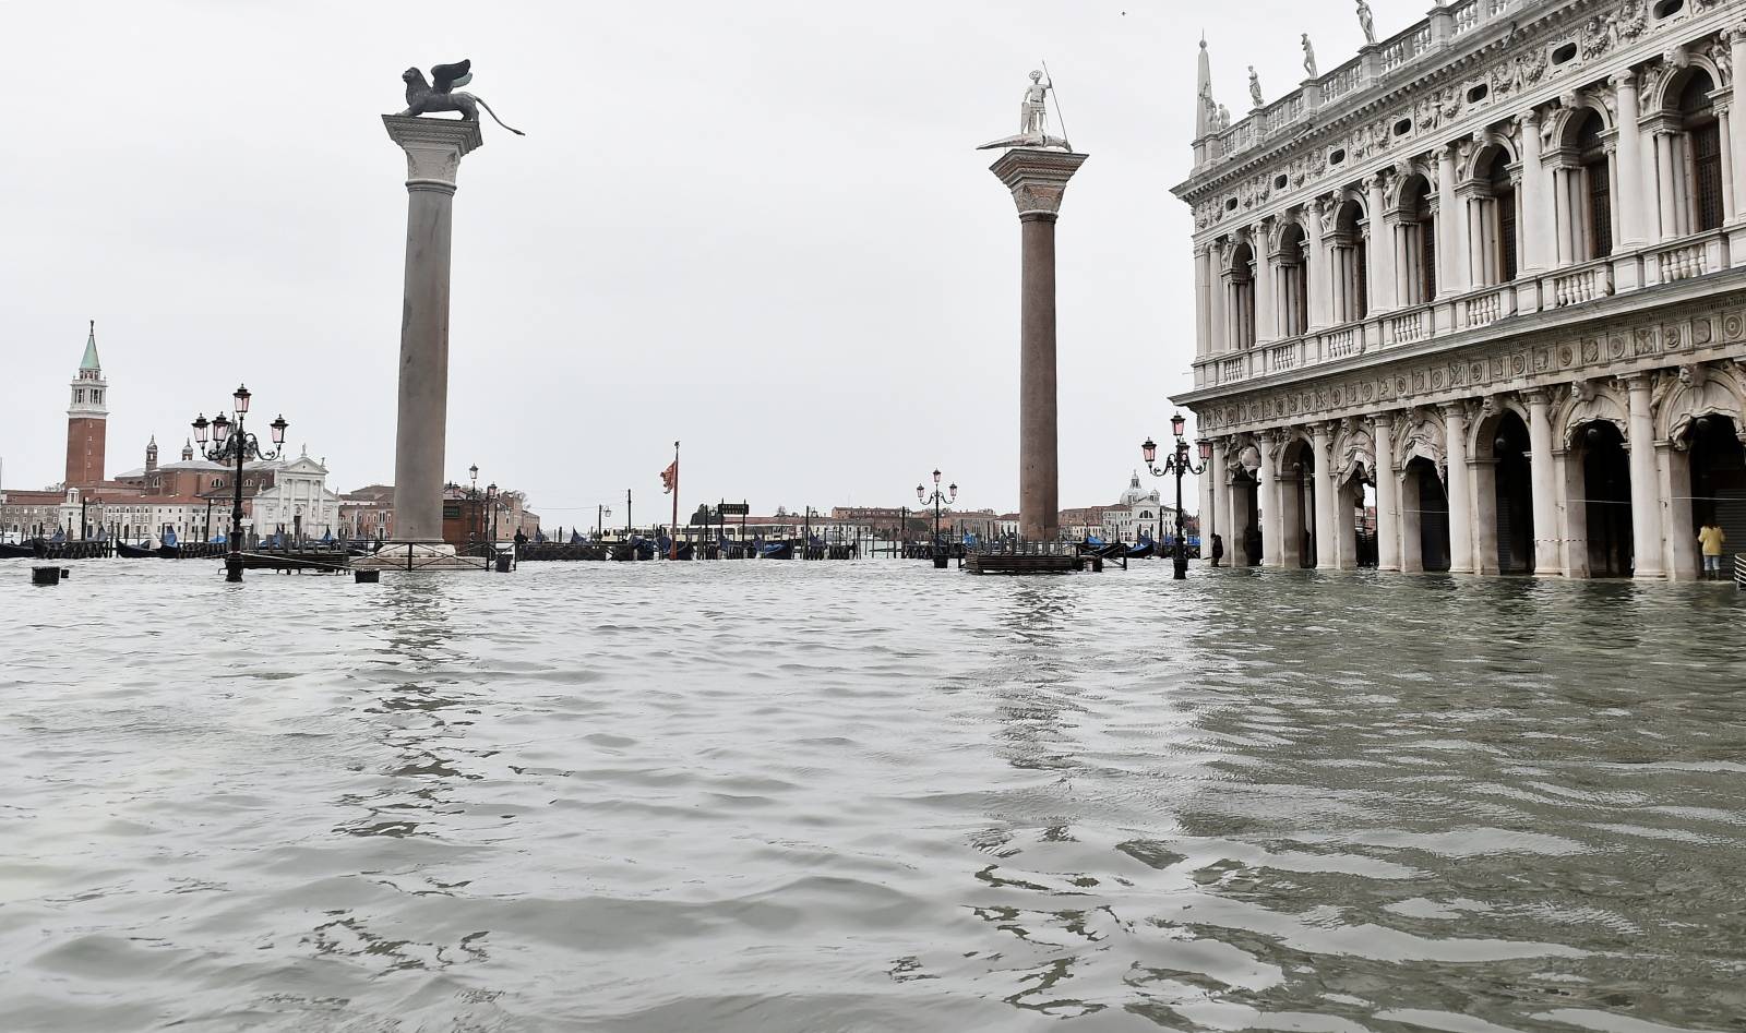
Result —
POLYGON ((1020 215, 1023 274, 1018 345, 1018 532, 1060 537, 1055 436, 1055 213, 1020 215))

